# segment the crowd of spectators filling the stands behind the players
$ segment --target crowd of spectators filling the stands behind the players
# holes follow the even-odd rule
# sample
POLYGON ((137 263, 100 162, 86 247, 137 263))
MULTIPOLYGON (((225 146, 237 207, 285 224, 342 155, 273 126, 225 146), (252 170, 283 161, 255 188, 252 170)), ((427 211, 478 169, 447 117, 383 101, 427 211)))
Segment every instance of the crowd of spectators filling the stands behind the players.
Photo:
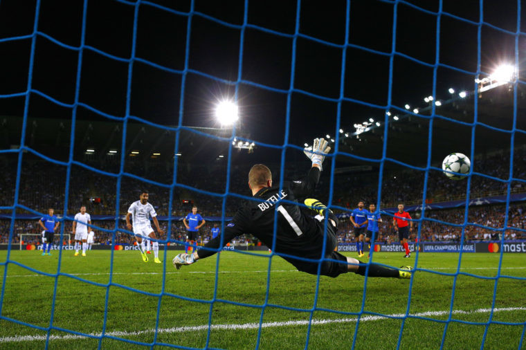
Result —
MULTIPOLYGON (((486 156, 476 156, 473 163, 473 172, 486 174, 501 180, 509 178, 509 152, 502 152, 486 156)), ((104 165, 105 171, 118 172, 118 163, 104 165)), ((101 166, 98 163, 89 164, 92 167, 101 166)), ((6 169, 0 177, 0 207, 9 207, 15 198, 15 186, 17 183, 17 164, 16 158, 0 157, 0 166, 6 169)), ((101 175, 92 172, 78 165, 71 166, 69 181, 69 196, 67 198, 68 214, 73 216, 78 212, 81 205, 87 206, 90 214, 102 214, 113 217, 118 211, 121 215, 127 212, 127 208, 134 201, 143 189, 149 191, 149 201, 154 205, 158 215, 181 218, 190 212, 192 205, 197 205, 198 211, 204 217, 221 217, 225 212, 226 217, 233 215, 235 210, 242 205, 243 199, 238 196, 228 195, 226 192, 226 168, 220 163, 216 165, 185 165, 178 167, 176 183, 183 184, 170 190, 169 184, 172 183, 172 169, 170 164, 150 164, 139 165, 127 161, 126 172, 147 178, 150 181, 165 184, 152 185, 145 181, 140 181, 132 176, 123 176, 118 189, 118 179, 114 176, 101 175), (191 190, 195 189, 195 190, 191 190), (213 192, 203 194, 196 190, 213 192), (170 195, 172 196, 172 208, 170 211, 170 195), (117 201, 119 197, 119 201, 117 201), (118 204, 118 208, 117 208, 118 204), (225 210, 223 210, 225 208, 225 210)), ((230 168, 229 194, 241 194, 250 196, 248 190, 247 174, 251 165, 232 165, 230 168)), ((280 165, 269 164, 273 170, 275 184, 278 183, 280 165)), ((301 163, 296 165, 287 164, 284 178, 295 179, 305 176, 308 165, 301 163)), ((30 208, 35 212, 45 213, 47 208, 54 208, 55 214, 62 215, 64 212, 65 190, 66 190, 67 168, 62 165, 55 165, 44 160, 33 159, 24 160, 21 167, 19 180, 18 203, 30 208)), ((423 198, 424 180, 426 173, 415 169, 394 170, 386 169, 381 182, 381 209, 394 208, 398 203, 410 205, 421 203, 423 198)), ((526 147, 514 149, 514 167, 512 176, 514 178, 526 178, 526 147)), ((314 196, 327 203, 331 189, 333 192, 333 205, 337 205, 342 213, 356 208, 359 201, 366 203, 377 203, 379 173, 372 169, 369 172, 336 174, 331 178, 327 170, 322 173, 320 183, 314 196), (345 210, 343 210, 345 209, 345 210)), ((440 202, 464 199, 466 196, 468 181, 451 181, 446 178, 439 170, 430 169, 427 179, 426 201, 440 202)), ((526 192, 523 183, 512 181, 509 183, 511 192, 526 192)), ((474 175, 471 178, 470 196, 471 198, 482 198, 484 196, 503 195, 507 193, 508 183, 497 181, 485 176, 474 175)), ((17 208, 17 213, 23 214, 31 212, 17 208)), ((525 215, 523 205, 511 205, 509 212, 508 225, 525 228, 525 215)), ((469 208, 468 223, 475 223, 491 228, 502 228, 504 224, 504 211, 502 205, 482 205, 469 208)), ((10 213, 11 210, 0 210, 0 213, 10 213)), ((412 213, 413 214, 413 213, 412 213)), ((415 213, 418 214, 418 213, 415 213)), ((394 232, 392 230, 392 220, 388 216, 383 216, 381 223, 381 236, 379 241, 392 241, 394 232)), ((455 225, 446 223, 464 223, 464 209, 453 210, 428 210, 426 219, 421 223, 421 239, 426 241, 455 241, 461 237, 462 229, 455 225), (433 219, 433 220, 427 220, 433 219)), ((114 221, 97 221, 97 225, 102 228, 113 229, 114 221)), ((165 221, 161 221, 165 225, 165 221)), ((0 243, 6 243, 9 220, 0 220, 0 243)), ((71 223, 66 223, 66 231, 71 232, 71 223)), ((120 221, 121 228, 124 228, 123 221, 120 221)), ((203 241, 210 235, 210 221, 201 230, 203 241)), ((417 226, 415 226, 417 227, 417 226)), ((166 228, 165 228, 166 230, 166 228)), ((347 221, 343 221, 339 230, 339 237, 342 242, 352 241, 354 238, 352 228, 347 221)), ((166 230, 167 231, 167 230, 166 230)), ((40 228, 36 221, 17 220, 15 223, 15 237, 13 242, 18 239, 18 233, 39 233, 40 228)), ((480 228, 475 225, 467 225, 464 231, 466 239, 490 239, 494 236, 494 231, 488 228, 480 228)), ((182 222, 172 222, 172 239, 183 241, 185 230, 182 222)), ((511 238, 526 238, 523 232, 507 232, 511 238), (515 235, 514 237, 512 237, 515 235)), ((111 234, 98 232, 98 243, 107 243, 111 234)), ((129 234, 118 233, 118 241, 130 243, 133 237, 129 234)), ((242 241, 249 238, 242 239, 242 241)))

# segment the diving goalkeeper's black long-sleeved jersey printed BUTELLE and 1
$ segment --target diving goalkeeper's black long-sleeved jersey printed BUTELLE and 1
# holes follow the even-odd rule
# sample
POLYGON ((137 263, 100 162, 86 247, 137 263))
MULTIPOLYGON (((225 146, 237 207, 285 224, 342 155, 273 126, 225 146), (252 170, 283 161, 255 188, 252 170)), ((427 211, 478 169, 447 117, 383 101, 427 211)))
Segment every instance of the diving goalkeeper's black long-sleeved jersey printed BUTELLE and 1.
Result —
MULTIPOLYGON (((230 223, 226 224, 224 234, 206 243, 206 248, 219 248, 240 234, 253 234, 267 247, 273 246, 274 221, 278 220, 274 252, 297 257, 319 259, 323 247, 323 222, 312 217, 305 207, 298 203, 313 192, 320 178, 320 169, 312 167, 307 180, 284 182, 280 187, 265 187, 253 197, 261 201, 248 201, 240 208, 230 223), (276 209, 277 205, 277 209, 276 209), (322 228, 320 231, 320 227, 322 228), (320 234, 321 233, 321 234, 320 234)), ((212 250, 197 251, 200 258, 215 254, 212 250)))

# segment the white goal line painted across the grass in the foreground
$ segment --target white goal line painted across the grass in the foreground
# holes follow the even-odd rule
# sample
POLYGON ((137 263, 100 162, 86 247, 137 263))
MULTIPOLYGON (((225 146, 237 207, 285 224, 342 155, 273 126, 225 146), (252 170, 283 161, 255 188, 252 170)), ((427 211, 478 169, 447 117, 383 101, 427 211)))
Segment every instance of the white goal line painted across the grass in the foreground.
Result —
MULTIPOLYGON (((510 307, 510 308, 494 308, 493 312, 502 312, 502 311, 526 311, 526 307, 510 307)), ((473 311, 464 311, 464 310, 453 310, 453 315, 472 315, 474 313, 489 313, 491 308, 478 308, 473 311)), ((426 311, 424 313, 415 313, 412 316, 417 317, 431 317, 431 316, 442 316, 448 315, 449 311, 426 311)), ((377 316, 377 315, 367 315, 360 317, 360 322, 369 322, 377 320, 386 320, 391 317, 404 317, 403 313, 395 313, 387 316, 377 316)), ((325 319, 325 320, 312 320, 311 324, 332 324, 332 323, 350 323, 356 322, 357 317, 352 318, 338 318, 338 319, 325 319)), ((271 327, 286 327, 286 326, 306 326, 309 324, 308 320, 296 320, 296 321, 283 321, 283 322, 264 322, 261 324, 262 328, 271 328, 271 327)), ((253 323, 244 323, 244 324, 212 324, 210 329, 212 331, 235 331, 238 329, 259 329, 260 324, 253 323)), ((208 324, 203 324, 201 326, 183 326, 183 327, 173 327, 173 328, 163 328, 158 329, 157 333, 184 333, 184 332, 194 332, 194 331, 205 331, 208 330, 208 324)), ((154 333, 155 329, 146 329, 144 331, 113 331, 107 332, 106 335, 111 335, 115 337, 129 337, 134 335, 141 335, 146 333, 154 333)), ((89 333, 95 337, 100 337, 100 333, 89 333)), ((87 338, 84 335, 50 335, 49 340, 75 340, 75 339, 84 339, 87 338)), ((46 335, 16 335, 15 337, 3 337, 0 338, 1 343, 8 342, 30 342, 30 341, 42 341, 46 340, 46 335)))

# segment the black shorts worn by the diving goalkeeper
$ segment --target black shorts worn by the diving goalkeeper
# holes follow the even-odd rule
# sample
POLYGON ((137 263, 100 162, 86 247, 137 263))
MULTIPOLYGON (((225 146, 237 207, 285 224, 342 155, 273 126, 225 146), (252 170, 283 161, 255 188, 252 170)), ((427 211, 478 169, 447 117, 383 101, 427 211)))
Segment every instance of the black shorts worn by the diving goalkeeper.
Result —
MULTIPOLYGON (((331 214, 329 214, 329 218, 333 219, 336 222, 336 225, 338 223, 338 219, 336 217, 331 217, 331 214)), ((323 246, 323 232, 324 232, 324 223, 321 221, 318 223, 316 229, 316 237, 317 240, 313 241, 313 247, 314 246, 323 246)), ((329 223, 327 223, 327 241, 325 242, 325 259, 329 260, 335 260, 335 261, 327 261, 324 260, 321 263, 320 268, 320 275, 323 276, 329 276, 329 277, 337 277, 338 275, 341 275, 342 273, 347 273, 347 257, 345 255, 341 255, 339 252, 335 252, 334 249, 338 246, 338 239, 336 238, 336 229, 329 223)), ((309 259, 320 259, 320 250, 312 250, 311 253, 306 254, 307 258, 309 259)), ((302 255, 304 256, 304 255, 302 255)), ((298 271, 302 271, 304 273, 310 273, 311 275, 318 275, 318 263, 311 262, 311 261, 304 261, 299 259, 294 259, 291 257, 283 257, 285 260, 289 261, 289 263, 293 264, 294 267, 298 269, 298 271)))

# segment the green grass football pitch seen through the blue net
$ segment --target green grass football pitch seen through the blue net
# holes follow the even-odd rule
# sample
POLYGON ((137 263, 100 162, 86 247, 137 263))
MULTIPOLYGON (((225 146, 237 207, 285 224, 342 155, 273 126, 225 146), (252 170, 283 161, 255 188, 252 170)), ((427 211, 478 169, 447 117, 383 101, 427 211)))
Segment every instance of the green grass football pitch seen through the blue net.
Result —
MULTIPOLYGON (((61 271, 75 274, 90 282, 107 284, 111 282, 148 293, 161 293, 163 264, 147 264, 138 252, 115 251, 114 275, 109 250, 93 250, 87 257, 73 257, 64 252, 61 271)), ((176 252, 169 251, 166 264, 165 293, 191 297, 206 301, 194 302, 179 297, 163 296, 156 342, 176 344, 183 347, 206 347, 210 301, 215 290, 216 257, 198 261, 176 271, 171 259, 176 252), (181 331, 183 326, 205 326, 181 331)), ((352 253, 349 253, 351 256, 352 253)), ((12 251, 10 259, 20 264, 56 273, 58 255, 42 257, 35 251, 12 251)), ((455 253, 421 253, 418 267, 433 272, 455 273, 459 255, 455 253)), ((161 252, 161 260, 163 252, 161 252)), ((0 251, 0 262, 6 261, 6 251, 0 251)), ((378 252, 374 261, 391 266, 414 264, 415 257, 403 259, 401 253, 378 252)), ((462 272, 484 277, 495 277, 498 273, 498 254, 462 255, 462 272)), ((280 257, 272 259, 271 274, 268 275, 268 255, 251 256, 235 252, 222 252, 217 276, 217 299, 250 304, 240 306, 217 301, 212 305, 212 325, 241 325, 260 322, 262 306, 266 299, 267 278, 269 278, 268 304, 264 308, 263 322, 288 322, 266 326, 261 330, 261 349, 302 349, 307 341, 309 312, 291 311, 289 308, 311 309, 316 305, 314 320, 333 322, 312 324, 309 334, 310 349, 350 348, 356 332, 356 317, 363 301, 364 277, 354 274, 341 275, 336 279, 320 277, 318 299, 316 300, 317 277, 299 273, 280 257), (323 309, 323 310, 322 310, 323 309), (338 311, 340 313, 335 313, 338 311), (342 314, 347 313, 347 314, 342 314), (347 320, 345 320, 347 319, 347 320), (298 322, 302 321, 302 322, 298 322)), ((0 266, 0 280, 3 280, 5 266, 0 266)), ((357 349, 392 349, 397 347, 401 335, 401 349, 437 349, 442 344, 451 305, 454 277, 417 271, 410 281, 401 279, 368 279, 365 293, 363 320, 356 333, 357 349), (424 318, 379 319, 370 313, 383 315, 405 314, 411 296, 410 314, 424 318), (442 311, 442 313, 440 313, 442 311), (433 313, 435 312, 435 313, 433 313), (402 329, 403 324, 403 329, 402 329), (402 329, 402 331, 401 331, 402 329)), ((502 258, 502 275, 526 277, 526 255, 505 254, 502 258)), ((79 281, 71 277, 47 277, 37 275, 15 264, 8 265, 5 294, 1 315, 21 322, 48 327, 51 319, 53 290, 57 282, 57 294, 53 326, 83 333, 100 333, 104 323, 107 288, 79 281)), ((479 349, 489 321, 490 313, 481 309, 491 308, 495 279, 458 275, 451 315, 453 320, 478 322, 465 324, 449 322, 444 338, 445 349, 479 349)), ((523 325, 510 326, 489 324, 485 349, 517 349, 526 323, 526 281, 501 277, 496 289, 495 307, 509 308, 493 313, 496 322, 520 322, 523 325)), ((120 286, 109 288, 106 332, 127 340, 154 342, 156 314, 159 298, 139 294, 120 286), (121 332, 121 333, 115 333, 121 332)), ((1 349, 42 349, 45 340, 19 341, 23 335, 46 335, 30 326, 7 320, 0 320, 1 349), (15 337, 17 341, 9 341, 15 337)), ((257 344, 257 327, 230 327, 212 329, 208 347, 226 349, 254 349, 257 344)), ((86 349, 98 347, 98 339, 71 339, 71 333, 53 329, 51 335, 59 338, 50 340, 51 349, 86 349), (65 338, 64 338, 65 337, 65 338)), ((526 338, 526 336, 525 336, 526 338)), ((104 338, 103 348, 144 349, 144 346, 104 338)), ((523 349, 526 339, 523 340, 523 349)), ((165 347, 156 347, 165 348, 165 347)))

